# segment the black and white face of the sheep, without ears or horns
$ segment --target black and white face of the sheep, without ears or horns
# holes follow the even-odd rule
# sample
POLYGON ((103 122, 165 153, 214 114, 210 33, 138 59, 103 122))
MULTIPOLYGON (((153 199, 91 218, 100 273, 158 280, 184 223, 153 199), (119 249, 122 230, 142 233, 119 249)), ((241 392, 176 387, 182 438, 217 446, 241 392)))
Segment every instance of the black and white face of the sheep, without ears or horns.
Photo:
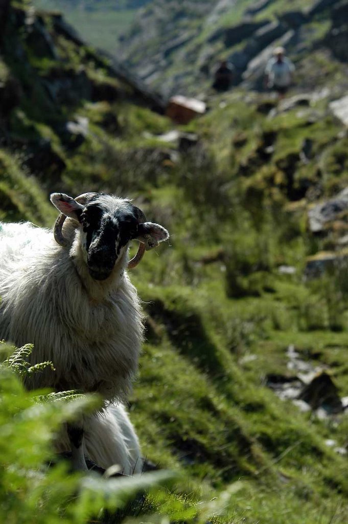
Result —
POLYGON ((81 213, 80 223, 89 274, 95 280, 105 280, 129 241, 137 236, 138 220, 132 213, 132 205, 107 210, 97 203, 88 204, 81 213))

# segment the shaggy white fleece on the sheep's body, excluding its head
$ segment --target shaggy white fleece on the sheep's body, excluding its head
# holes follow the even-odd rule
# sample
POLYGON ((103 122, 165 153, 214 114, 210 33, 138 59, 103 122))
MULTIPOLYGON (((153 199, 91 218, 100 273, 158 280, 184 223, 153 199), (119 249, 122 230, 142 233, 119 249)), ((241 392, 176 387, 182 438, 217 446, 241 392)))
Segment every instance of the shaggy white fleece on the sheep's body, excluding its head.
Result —
POLYGON ((0 340, 34 345, 31 363, 55 367, 26 380, 30 388, 98 392, 106 411, 86 420, 87 455, 99 465, 131 471, 139 444, 122 405, 138 369, 143 318, 125 268, 128 246, 111 276, 93 280, 71 219, 64 224, 69 248, 50 230, 30 223, 0 223, 0 340), (92 435, 92 436, 91 436, 92 435))

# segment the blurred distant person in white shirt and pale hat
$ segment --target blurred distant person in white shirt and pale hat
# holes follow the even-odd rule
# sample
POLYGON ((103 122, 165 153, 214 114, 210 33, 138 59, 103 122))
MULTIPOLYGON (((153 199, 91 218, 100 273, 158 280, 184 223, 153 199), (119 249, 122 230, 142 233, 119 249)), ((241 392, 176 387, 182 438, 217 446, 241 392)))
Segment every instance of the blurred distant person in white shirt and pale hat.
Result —
POLYGON ((267 88, 277 91, 279 97, 283 97, 287 92, 295 66, 291 60, 284 56, 284 47, 276 47, 273 51, 273 58, 268 60, 265 69, 265 84, 267 88))

